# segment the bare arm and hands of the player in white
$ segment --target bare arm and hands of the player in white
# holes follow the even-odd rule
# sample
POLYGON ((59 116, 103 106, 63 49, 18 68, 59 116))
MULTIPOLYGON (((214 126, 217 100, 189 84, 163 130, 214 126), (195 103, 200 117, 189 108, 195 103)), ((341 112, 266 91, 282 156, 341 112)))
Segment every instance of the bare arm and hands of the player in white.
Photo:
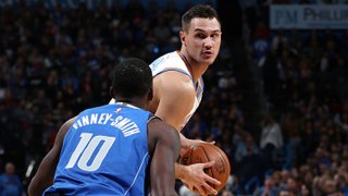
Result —
MULTIPOLYGON (((154 98, 159 99, 156 115, 174 126, 178 132, 195 103, 195 89, 191 79, 181 73, 167 72, 154 77, 154 98), (159 84, 156 84, 159 83, 159 84)), ((199 139, 188 139, 181 134, 182 148, 189 148, 195 143, 202 143, 199 139)), ((191 187, 197 187, 200 194, 216 194, 216 191, 209 185, 220 182, 203 172, 214 162, 183 166, 175 163, 175 176, 191 187)))

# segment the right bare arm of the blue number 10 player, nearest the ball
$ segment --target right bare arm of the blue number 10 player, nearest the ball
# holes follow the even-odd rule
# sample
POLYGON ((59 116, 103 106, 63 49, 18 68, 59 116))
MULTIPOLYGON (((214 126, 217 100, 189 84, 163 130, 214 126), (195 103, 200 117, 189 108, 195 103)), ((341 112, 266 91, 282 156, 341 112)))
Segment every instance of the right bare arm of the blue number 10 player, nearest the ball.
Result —
POLYGON ((181 150, 178 133, 159 119, 149 122, 148 133, 149 150, 152 152, 151 196, 176 195, 174 163, 181 150))

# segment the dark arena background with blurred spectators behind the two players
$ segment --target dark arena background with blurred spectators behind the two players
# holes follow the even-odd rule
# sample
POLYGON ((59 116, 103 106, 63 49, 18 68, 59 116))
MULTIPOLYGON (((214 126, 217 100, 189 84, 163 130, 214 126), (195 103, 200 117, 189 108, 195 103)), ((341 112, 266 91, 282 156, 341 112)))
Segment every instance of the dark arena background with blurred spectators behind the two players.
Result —
POLYGON ((109 101, 120 60, 179 49, 196 3, 216 8, 223 44, 184 132, 228 155, 224 194, 348 195, 345 0, 0 1, 0 173, 13 162, 26 195, 60 125, 109 101))

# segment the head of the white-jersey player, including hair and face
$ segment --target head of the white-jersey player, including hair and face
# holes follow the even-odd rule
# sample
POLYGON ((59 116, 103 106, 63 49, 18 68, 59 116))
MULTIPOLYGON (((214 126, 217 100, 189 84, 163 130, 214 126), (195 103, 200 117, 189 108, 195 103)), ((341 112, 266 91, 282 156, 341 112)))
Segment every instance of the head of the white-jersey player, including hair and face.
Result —
POLYGON ((221 23, 216 11, 208 4, 197 4, 182 16, 182 51, 189 60, 209 65, 217 57, 221 45, 221 23))

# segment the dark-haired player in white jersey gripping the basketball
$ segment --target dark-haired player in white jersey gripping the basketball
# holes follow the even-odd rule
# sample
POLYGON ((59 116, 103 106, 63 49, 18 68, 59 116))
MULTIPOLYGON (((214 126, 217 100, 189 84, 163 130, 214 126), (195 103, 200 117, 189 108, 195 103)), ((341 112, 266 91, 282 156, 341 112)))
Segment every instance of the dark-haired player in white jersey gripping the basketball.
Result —
MULTIPOLYGON (((201 76, 217 57, 221 34, 216 11, 210 5, 195 5, 182 17, 181 50, 166 53, 150 64, 154 93, 150 111, 178 132, 200 103, 203 91, 201 76)), ((188 139, 183 134, 181 142, 184 149, 204 143, 188 139)), ((217 192, 211 184, 219 185, 220 182, 203 172, 204 168, 213 164, 214 162, 191 166, 176 163, 175 175, 192 192, 216 195, 217 192)))

